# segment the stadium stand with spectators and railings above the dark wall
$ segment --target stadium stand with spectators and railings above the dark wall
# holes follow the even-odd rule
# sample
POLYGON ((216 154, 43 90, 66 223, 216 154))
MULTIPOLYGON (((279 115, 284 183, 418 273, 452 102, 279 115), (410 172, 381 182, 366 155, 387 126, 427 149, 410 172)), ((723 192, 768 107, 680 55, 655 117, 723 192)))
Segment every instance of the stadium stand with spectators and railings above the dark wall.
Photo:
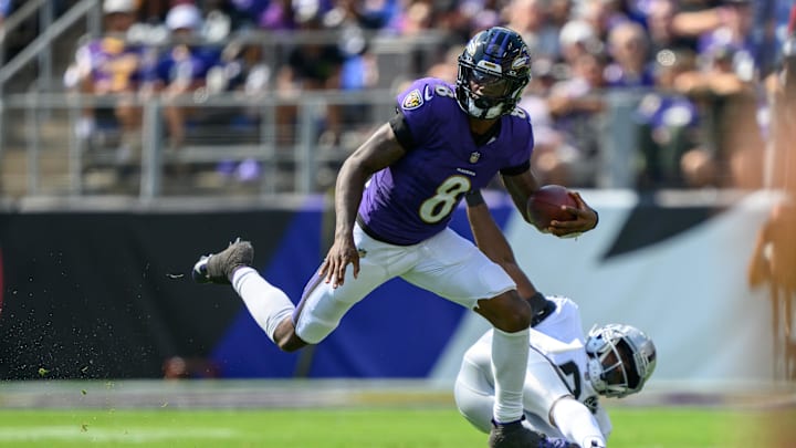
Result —
MULTIPOLYGON (((754 86, 775 66, 768 53, 786 35, 787 17, 778 13, 784 2, 777 0, 760 4, 739 0, 123 2, 138 7, 136 23, 116 35, 140 49, 140 82, 126 98, 140 110, 140 131, 132 137, 122 132, 125 126, 117 114, 97 114, 91 124, 81 119, 86 107, 107 110, 118 98, 74 90, 80 71, 70 65, 75 52, 84 42, 107 35, 104 1, 12 2, 3 22, 8 38, 0 45, 7 60, 0 70, 0 180, 6 195, 146 198, 323 191, 345 155, 375 124, 390 116, 394 93, 404 82, 440 73, 432 69, 451 49, 473 31, 495 23, 521 30, 540 61, 549 61, 551 70, 543 70, 546 82, 570 82, 573 63, 584 52, 605 63, 603 86, 594 90, 605 107, 594 118, 598 122, 594 127, 604 129, 597 133, 599 142, 589 142, 587 149, 596 155, 593 171, 561 181, 574 187, 645 189, 755 188, 763 183, 763 145, 758 143, 766 123, 743 118, 766 116, 767 105, 754 86), (182 46, 175 46, 176 37, 168 27, 175 6, 184 10, 193 6, 201 15, 195 18, 195 35, 181 38, 182 46), (305 27, 308 22, 312 30, 305 27), (752 23, 772 25, 776 32, 773 37, 745 32, 752 23), (342 71, 323 85, 313 84, 307 76, 316 74, 310 72, 285 83, 286 74, 296 74, 302 66, 297 55, 317 44, 339 50, 342 71), (174 60, 169 52, 176 48, 206 53, 213 49, 217 60, 202 60, 208 66, 193 73, 199 76, 191 83, 195 88, 166 96, 157 80, 189 70, 188 64, 175 63, 160 65, 158 74, 158 61, 169 55, 174 60), (627 51, 635 53, 622 56, 627 51), (658 55, 689 51, 696 61, 691 73, 678 74, 666 87, 650 85, 660 66, 658 55), (724 64, 720 66, 724 79, 736 84, 730 91, 726 84, 705 87, 699 83, 710 77, 718 63, 724 64), (641 77, 631 80, 629 71, 639 71, 632 76, 641 77), (649 118, 640 117, 638 111, 641 100, 651 97, 647 94, 662 88, 692 102, 694 115, 689 123, 695 131, 689 145, 701 150, 684 157, 688 152, 678 148, 667 160, 671 173, 658 183, 647 164, 660 156, 649 150, 670 146, 669 137, 662 127, 651 142, 649 135, 639 135, 639 119, 649 118), (198 113, 176 119, 174 111, 179 110, 198 113), (287 110, 295 115, 282 113, 287 110), (727 143, 723 129, 739 129, 752 138, 727 143), (649 142, 643 146, 647 154, 638 150, 639 138, 649 142), (119 164, 124 158, 119 148, 126 146, 140 155, 133 158, 133 168, 119 164), (187 166, 188 175, 176 176, 186 174, 178 166, 187 166), (692 179, 703 168, 718 174, 671 181, 692 179)), ((191 70, 196 69, 195 64, 191 70)), ((544 106, 546 100, 538 91, 530 90, 528 95, 536 97, 526 104, 544 106)), ((572 115, 547 117, 547 136, 558 139, 543 146, 564 159, 583 150, 573 135, 580 132, 567 124, 572 115)))

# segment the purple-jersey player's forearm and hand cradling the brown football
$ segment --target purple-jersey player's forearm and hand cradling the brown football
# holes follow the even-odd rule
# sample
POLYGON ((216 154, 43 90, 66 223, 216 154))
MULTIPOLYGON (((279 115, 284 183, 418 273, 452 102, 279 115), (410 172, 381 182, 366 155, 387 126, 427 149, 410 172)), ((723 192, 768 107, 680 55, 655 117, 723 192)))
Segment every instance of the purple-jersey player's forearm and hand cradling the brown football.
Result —
MULTIPOLYGON (((533 173, 531 173, 530 169, 525 169, 519 174, 501 171, 501 179, 511 195, 514 206, 520 210, 525 221, 537 227, 527 212, 528 198, 540 188, 540 184, 533 173)), ((573 199, 575 199, 577 207, 568 207, 567 211, 569 211, 575 219, 567 221, 554 220, 551 222, 549 229, 540 230, 549 230, 549 232, 556 237, 566 237, 583 233, 597 227, 599 219, 597 211, 583 200, 579 192, 570 191, 570 195, 573 199)))

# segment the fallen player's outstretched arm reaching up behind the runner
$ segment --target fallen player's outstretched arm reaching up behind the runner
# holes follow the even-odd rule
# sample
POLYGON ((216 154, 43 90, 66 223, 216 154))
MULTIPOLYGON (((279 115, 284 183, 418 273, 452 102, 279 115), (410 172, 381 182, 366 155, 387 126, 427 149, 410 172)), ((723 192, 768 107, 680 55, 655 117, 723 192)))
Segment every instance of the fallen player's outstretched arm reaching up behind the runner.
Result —
POLYGON ((468 204, 467 212, 470 221, 475 244, 492 261, 500 264, 506 271, 509 277, 514 280, 517 285, 517 292, 521 298, 531 298, 537 293, 531 280, 525 272, 520 269, 514 258, 509 241, 503 236, 503 231, 492 218, 492 213, 483 200, 480 190, 470 191, 464 196, 468 204))

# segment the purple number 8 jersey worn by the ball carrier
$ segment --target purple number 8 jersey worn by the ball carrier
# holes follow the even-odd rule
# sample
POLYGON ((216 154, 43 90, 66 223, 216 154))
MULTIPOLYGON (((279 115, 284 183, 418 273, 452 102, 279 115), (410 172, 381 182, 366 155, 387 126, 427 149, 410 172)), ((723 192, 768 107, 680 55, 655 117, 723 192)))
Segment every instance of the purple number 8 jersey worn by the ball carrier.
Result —
POLYGON ((479 146, 452 85, 425 77, 397 100, 415 147, 365 188, 359 217, 375 238, 409 246, 432 237, 448 226, 467 191, 531 159, 531 121, 520 107, 501 117, 500 133, 479 146))

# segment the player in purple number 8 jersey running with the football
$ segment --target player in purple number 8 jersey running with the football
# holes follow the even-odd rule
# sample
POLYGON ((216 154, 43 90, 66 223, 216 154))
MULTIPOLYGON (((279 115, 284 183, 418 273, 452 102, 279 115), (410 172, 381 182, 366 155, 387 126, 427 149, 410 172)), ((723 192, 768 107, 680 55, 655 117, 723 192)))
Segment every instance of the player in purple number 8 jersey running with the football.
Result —
MULTIPOLYGON (((494 326, 490 446, 566 446, 522 425, 528 327, 538 310, 520 298, 499 264, 448 227, 464 195, 499 173, 533 223, 526 210, 540 187, 530 170, 533 131, 516 106, 530 67, 520 34, 495 27, 470 40, 455 85, 425 77, 397 96, 395 117, 341 168, 334 242, 297 305, 250 267, 248 241, 200 258, 193 279, 231 283, 284 351, 323 341, 354 304, 395 277, 474 310, 494 326)), ((597 212, 575 197, 573 220, 540 230, 564 237, 595 228, 597 212)))

